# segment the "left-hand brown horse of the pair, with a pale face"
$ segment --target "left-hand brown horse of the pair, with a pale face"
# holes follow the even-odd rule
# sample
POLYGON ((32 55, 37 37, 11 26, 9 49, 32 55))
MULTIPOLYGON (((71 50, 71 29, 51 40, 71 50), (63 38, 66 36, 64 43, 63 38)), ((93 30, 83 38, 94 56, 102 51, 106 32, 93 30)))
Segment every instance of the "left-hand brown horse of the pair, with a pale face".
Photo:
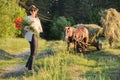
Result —
POLYGON ((74 50, 76 48, 75 40, 73 38, 73 33, 76 29, 74 27, 68 26, 64 28, 64 40, 67 40, 67 51, 70 50, 70 43, 74 43, 74 50))

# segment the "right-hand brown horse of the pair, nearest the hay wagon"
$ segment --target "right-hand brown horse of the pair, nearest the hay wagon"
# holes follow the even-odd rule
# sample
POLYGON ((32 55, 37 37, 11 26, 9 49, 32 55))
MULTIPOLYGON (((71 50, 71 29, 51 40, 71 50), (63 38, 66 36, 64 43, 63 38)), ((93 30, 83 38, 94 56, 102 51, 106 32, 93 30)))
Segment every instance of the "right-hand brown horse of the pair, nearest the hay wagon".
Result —
POLYGON ((75 40, 77 51, 82 50, 85 53, 88 48, 89 32, 84 26, 77 28, 73 33, 73 39, 75 40))

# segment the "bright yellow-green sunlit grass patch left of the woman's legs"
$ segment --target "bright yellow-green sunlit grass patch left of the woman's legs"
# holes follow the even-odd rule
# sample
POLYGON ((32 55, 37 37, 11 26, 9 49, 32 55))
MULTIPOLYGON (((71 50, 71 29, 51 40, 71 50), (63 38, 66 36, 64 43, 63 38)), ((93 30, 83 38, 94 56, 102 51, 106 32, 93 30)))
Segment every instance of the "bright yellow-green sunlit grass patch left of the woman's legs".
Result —
POLYGON ((28 47, 28 42, 22 38, 0 38, 0 50, 10 54, 17 54, 28 47))

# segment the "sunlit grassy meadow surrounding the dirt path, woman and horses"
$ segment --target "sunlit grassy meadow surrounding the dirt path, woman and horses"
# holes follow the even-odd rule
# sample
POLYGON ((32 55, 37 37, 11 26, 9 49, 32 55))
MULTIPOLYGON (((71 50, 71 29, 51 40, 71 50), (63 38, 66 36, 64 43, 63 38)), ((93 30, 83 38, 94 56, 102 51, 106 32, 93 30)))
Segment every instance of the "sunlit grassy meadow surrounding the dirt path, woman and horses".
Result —
MULTIPOLYGON (((14 73, 2 80, 119 80, 120 44, 109 48, 103 40, 103 49, 96 51, 93 46, 85 55, 75 54, 73 46, 68 54, 67 44, 63 41, 39 40, 38 55, 35 60, 35 73, 14 73), (118 47, 117 47, 118 46, 118 47), (44 56, 43 56, 44 55, 44 56), (42 56, 42 57, 41 57, 42 56)), ((25 39, 0 39, 0 74, 9 66, 24 65, 26 58, 14 58, 15 55, 29 50, 25 39)))

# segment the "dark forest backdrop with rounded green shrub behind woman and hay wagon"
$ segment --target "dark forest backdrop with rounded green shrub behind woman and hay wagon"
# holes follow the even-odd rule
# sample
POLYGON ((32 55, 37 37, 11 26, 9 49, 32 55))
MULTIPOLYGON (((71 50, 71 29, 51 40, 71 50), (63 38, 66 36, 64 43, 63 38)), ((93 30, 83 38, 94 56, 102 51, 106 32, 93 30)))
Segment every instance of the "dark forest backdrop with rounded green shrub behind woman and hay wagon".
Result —
MULTIPOLYGON (((13 10, 14 14, 16 13, 13 18, 21 14, 25 16, 23 15, 26 12, 25 8, 32 4, 39 8, 40 19, 44 29, 44 33, 41 36, 46 39, 61 39, 64 26, 72 26, 77 23, 101 25, 99 13, 102 10, 112 7, 120 11, 120 0, 8 0, 6 2, 1 0, 0 5, 6 5, 4 8, 7 8, 7 4, 11 4, 10 1, 14 2, 11 5, 11 9, 14 6, 20 8, 20 10, 17 10, 18 12, 16 12, 16 9, 13 10)), ((1 11, 0 14, 3 15, 1 11)), ((13 26, 13 24, 7 26, 13 26)), ((14 34, 14 36, 20 36, 16 32, 14 34)), ((0 35, 0 37, 2 36, 0 35)))

